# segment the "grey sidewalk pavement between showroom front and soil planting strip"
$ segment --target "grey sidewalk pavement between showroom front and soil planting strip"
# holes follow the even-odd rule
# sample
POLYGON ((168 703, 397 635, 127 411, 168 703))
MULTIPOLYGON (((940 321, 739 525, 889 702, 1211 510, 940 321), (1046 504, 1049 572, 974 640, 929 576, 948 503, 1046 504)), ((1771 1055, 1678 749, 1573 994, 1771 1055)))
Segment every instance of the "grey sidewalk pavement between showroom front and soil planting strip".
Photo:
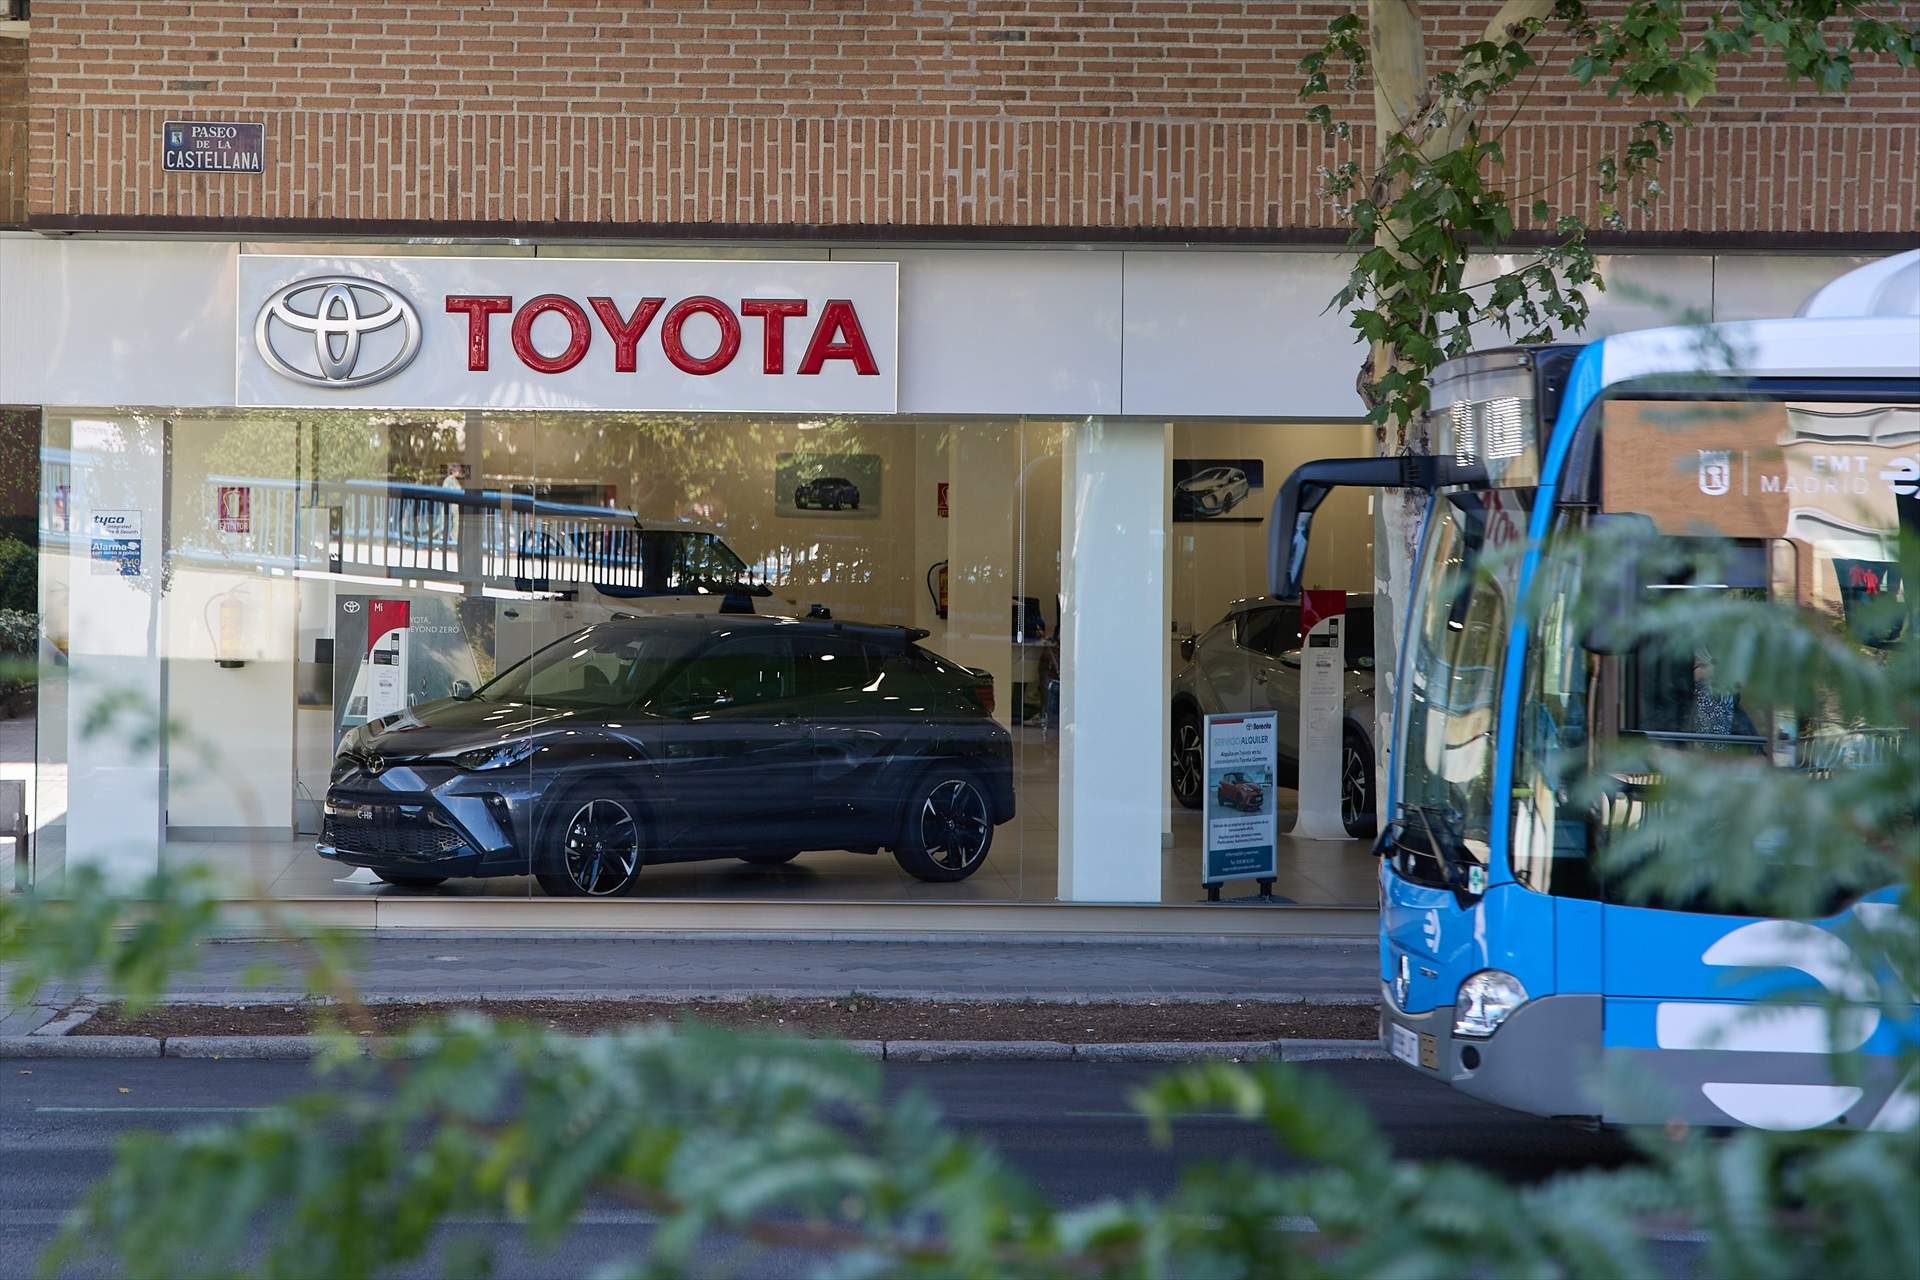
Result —
MULTIPOLYGON (((405 935, 359 940, 357 984, 367 1000, 476 998, 747 998, 845 996, 904 1000, 1260 1000, 1371 1002, 1379 952, 1365 940, 1200 938, 1114 942, 939 936, 849 940, 814 936, 405 935)), ((169 998, 255 1004, 300 998, 298 969, 250 983, 263 965, 298 963, 278 942, 219 940, 196 969, 175 975, 169 998)), ((102 996, 100 983, 42 992, 56 1009, 102 996)), ((29 1009, 0 1015, 0 1034, 23 1034, 29 1009)))

